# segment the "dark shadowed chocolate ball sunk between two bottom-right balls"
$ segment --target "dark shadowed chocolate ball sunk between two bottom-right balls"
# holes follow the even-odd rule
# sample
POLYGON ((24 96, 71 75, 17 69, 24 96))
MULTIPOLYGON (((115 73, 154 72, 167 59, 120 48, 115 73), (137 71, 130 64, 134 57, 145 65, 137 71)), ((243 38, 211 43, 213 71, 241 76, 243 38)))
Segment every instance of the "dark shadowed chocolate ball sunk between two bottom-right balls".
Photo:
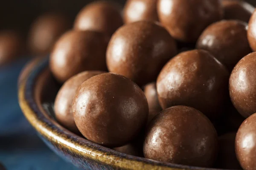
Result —
POLYGON ((226 133, 218 137, 219 153, 216 161, 217 168, 241 170, 235 152, 236 132, 226 133))

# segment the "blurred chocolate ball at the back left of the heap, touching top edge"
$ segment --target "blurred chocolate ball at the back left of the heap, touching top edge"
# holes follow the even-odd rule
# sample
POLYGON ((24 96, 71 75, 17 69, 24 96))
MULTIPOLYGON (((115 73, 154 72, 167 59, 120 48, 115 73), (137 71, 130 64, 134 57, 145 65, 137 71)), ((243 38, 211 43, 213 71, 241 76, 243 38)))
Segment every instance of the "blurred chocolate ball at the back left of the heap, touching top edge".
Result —
POLYGON ((111 36, 122 24, 121 8, 117 4, 96 1, 81 9, 74 28, 100 31, 111 36))

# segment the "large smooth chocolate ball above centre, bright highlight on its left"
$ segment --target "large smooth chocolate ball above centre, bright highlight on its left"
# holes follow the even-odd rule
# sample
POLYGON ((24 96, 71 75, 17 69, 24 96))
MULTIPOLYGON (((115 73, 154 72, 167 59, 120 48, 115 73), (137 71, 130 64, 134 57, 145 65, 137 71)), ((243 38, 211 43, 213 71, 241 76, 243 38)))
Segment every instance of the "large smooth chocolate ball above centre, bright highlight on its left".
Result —
POLYGON ((122 26, 111 37, 108 70, 145 85, 155 81, 163 65, 176 53, 175 40, 165 28, 138 21, 122 26))

